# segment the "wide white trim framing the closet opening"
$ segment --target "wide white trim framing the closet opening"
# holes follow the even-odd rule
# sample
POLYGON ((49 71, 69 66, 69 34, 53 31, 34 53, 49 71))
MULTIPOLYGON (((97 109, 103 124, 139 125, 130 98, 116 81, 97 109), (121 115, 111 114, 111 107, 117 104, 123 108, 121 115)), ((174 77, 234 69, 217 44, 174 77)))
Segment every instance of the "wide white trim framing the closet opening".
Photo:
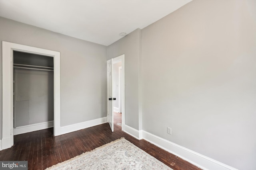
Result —
POLYGON ((13 139, 13 51, 54 59, 54 136, 60 134, 60 52, 2 41, 2 149, 12 147, 13 139))

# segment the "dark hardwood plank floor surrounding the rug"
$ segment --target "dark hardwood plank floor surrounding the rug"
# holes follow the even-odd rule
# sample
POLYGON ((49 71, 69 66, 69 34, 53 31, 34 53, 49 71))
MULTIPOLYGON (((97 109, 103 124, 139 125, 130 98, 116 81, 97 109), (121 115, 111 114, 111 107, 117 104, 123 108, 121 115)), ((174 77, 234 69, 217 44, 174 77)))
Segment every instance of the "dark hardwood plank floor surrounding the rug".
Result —
POLYGON ((174 170, 200 170, 155 145, 138 140, 121 130, 121 114, 115 113, 114 132, 108 123, 54 137, 53 128, 14 136, 14 146, 0 151, 0 160, 28 160, 29 170, 44 170, 83 152, 124 137, 174 170))

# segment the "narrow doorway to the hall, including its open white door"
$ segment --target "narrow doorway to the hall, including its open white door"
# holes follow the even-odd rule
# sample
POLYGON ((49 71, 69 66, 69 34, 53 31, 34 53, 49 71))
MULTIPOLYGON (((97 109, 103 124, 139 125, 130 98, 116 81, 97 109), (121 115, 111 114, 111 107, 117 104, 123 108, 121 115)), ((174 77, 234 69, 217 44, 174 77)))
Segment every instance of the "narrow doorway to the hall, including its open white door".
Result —
POLYGON ((125 89, 124 55, 107 61, 108 123, 114 132, 114 123, 124 130, 125 89), (114 121, 115 120, 115 121, 114 121))

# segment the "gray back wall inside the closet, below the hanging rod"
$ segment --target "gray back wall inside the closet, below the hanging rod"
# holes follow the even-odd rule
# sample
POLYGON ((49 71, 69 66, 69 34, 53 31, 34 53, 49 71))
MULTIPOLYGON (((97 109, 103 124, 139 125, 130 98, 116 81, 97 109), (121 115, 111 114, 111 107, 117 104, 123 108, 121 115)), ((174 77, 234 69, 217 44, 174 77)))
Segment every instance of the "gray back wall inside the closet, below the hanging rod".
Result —
POLYGON ((14 70, 14 127, 53 120, 53 72, 14 70))

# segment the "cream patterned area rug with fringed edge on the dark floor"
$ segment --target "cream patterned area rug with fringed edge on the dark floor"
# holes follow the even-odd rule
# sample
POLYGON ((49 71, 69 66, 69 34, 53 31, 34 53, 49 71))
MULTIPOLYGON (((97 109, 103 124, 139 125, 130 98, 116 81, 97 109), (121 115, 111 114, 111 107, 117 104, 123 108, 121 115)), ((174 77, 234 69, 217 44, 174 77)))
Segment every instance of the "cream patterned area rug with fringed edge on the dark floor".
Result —
POLYGON ((46 170, 172 170, 124 138, 46 170))

